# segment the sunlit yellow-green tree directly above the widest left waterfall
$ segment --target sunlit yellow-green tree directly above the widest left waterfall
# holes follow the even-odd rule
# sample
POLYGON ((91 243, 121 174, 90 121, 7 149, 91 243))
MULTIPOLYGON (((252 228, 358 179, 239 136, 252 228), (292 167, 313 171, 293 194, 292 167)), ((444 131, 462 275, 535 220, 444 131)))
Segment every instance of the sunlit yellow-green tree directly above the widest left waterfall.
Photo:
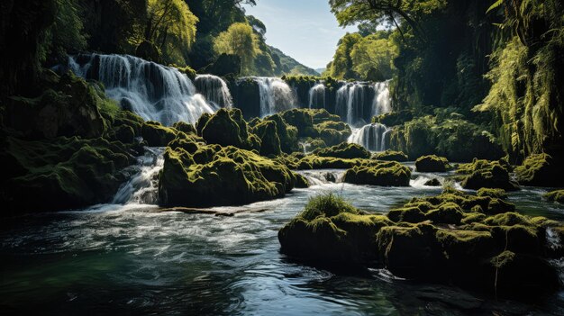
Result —
POLYGON ((185 66, 196 41, 198 18, 182 0, 149 0, 145 41, 154 43, 168 63, 185 66))

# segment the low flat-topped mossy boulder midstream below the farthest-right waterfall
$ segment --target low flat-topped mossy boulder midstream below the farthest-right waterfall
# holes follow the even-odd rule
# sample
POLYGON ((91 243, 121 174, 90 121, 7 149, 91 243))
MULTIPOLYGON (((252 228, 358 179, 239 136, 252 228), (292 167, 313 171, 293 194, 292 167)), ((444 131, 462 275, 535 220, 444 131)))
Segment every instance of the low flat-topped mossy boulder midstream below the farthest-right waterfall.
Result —
POLYGON ((411 170, 395 161, 352 167, 342 181, 353 185, 409 186, 411 170))

